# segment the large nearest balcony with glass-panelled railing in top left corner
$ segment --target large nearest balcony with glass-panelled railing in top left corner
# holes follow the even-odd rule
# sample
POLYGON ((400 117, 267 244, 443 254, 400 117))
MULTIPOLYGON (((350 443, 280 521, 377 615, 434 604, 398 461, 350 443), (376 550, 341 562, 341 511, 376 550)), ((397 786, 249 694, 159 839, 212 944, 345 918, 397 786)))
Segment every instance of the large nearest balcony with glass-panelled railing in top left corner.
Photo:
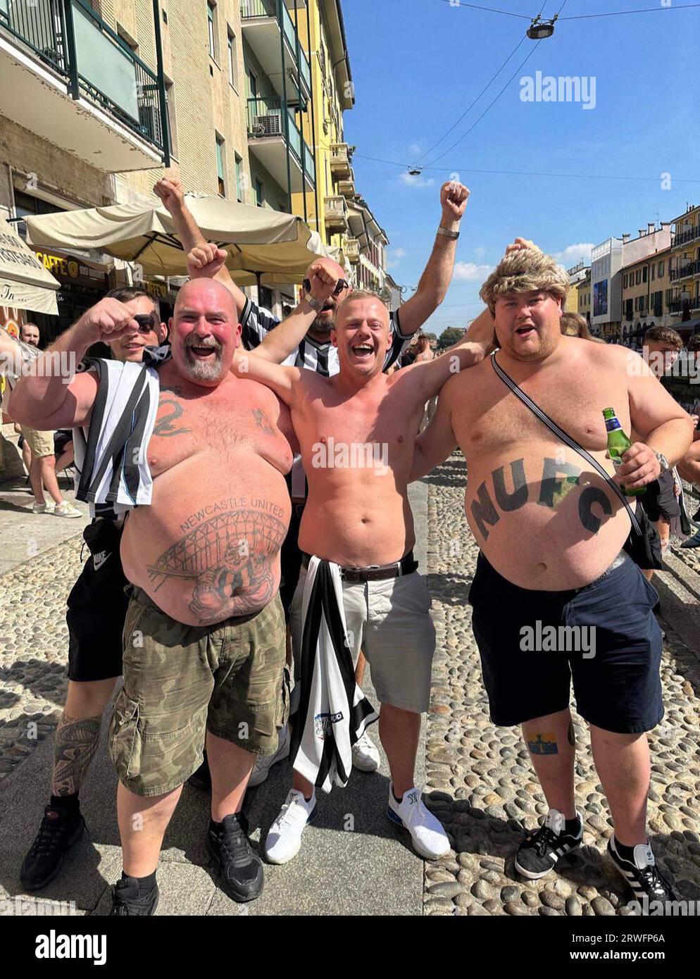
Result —
POLYGON ((0 114, 108 173, 160 166, 163 76, 83 0, 0 0, 0 114))

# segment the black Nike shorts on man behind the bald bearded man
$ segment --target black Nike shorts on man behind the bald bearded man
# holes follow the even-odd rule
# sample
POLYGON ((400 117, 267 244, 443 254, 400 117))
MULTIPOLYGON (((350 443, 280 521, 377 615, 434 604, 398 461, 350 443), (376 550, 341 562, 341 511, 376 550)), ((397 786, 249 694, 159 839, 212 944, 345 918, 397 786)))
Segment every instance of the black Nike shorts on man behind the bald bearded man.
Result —
POLYGON ((68 599, 69 679, 121 676, 128 582, 121 570, 120 536, 110 520, 95 520, 83 531, 91 553, 68 599))

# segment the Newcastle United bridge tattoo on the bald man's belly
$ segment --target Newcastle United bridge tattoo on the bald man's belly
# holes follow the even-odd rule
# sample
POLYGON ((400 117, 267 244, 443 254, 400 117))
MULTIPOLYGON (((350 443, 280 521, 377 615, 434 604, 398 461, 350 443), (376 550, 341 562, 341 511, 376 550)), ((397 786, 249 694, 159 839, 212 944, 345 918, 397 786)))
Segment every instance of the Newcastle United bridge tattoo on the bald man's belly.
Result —
POLYGON ((203 625, 255 612, 274 595, 272 561, 286 534, 271 513, 219 514, 163 551, 149 577, 156 591, 167 579, 194 579, 188 607, 203 625))

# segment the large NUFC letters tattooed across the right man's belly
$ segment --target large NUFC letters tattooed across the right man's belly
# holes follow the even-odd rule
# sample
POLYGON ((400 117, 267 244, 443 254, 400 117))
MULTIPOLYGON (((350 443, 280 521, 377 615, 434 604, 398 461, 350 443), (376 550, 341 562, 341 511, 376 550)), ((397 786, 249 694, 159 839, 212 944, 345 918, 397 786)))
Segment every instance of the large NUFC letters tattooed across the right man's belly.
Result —
MULTIPOLYGON (((488 527, 494 527, 500 520, 499 510, 503 513, 512 513, 525 506, 530 498, 530 489, 525 477, 525 459, 513 459, 509 466, 512 490, 506 488, 505 467, 498 466, 490 474, 493 495, 491 496, 489 487, 484 482, 477 489, 476 497, 471 502, 472 519, 485 540, 489 539, 488 527)), ((579 466, 571 462, 545 457, 542 462, 537 504, 552 510, 556 509, 568 493, 580 485, 581 473, 579 466)), ((597 534, 602 524, 601 517, 593 513, 594 505, 600 507, 603 516, 612 516, 613 506, 607 493, 599 487, 584 487, 579 496, 578 513, 583 528, 591 534, 597 534)))

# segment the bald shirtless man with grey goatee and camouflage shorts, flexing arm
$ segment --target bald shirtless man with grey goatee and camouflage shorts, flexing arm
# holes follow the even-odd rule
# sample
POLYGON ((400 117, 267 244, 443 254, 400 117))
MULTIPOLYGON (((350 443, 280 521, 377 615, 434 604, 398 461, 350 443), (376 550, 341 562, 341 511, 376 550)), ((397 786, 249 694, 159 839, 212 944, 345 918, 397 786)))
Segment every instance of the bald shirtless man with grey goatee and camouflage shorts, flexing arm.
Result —
MULTIPOLYGON (((103 300, 53 350, 80 359, 96 341, 136 328, 124 304, 103 300)), ((183 783, 202 763, 205 736, 208 846, 221 886, 239 901, 262 888, 240 808, 256 756, 277 750, 285 663, 277 590, 292 449, 283 434, 287 409, 267 388, 230 373, 240 332, 222 286, 189 282, 170 321, 171 358, 154 368, 160 406, 147 445, 152 501, 131 510, 120 548, 133 590, 124 685, 110 730, 123 850, 117 915, 156 909, 163 833, 183 783)), ((133 375, 128 366, 122 377, 133 375)), ((105 412, 91 418, 97 393, 92 371, 69 386, 31 377, 18 384, 11 405, 39 428, 102 426, 105 412)))

